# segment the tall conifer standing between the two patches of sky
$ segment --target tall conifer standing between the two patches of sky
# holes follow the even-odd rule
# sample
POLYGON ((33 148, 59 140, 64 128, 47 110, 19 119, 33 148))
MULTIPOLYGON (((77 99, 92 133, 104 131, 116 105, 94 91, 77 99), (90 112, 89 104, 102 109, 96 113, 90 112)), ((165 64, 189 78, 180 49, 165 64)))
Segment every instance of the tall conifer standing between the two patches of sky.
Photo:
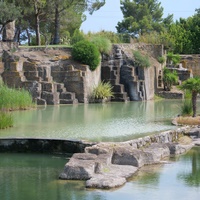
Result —
POLYGON ((132 36, 162 30, 163 8, 157 0, 121 0, 122 22, 116 28, 119 33, 132 36))

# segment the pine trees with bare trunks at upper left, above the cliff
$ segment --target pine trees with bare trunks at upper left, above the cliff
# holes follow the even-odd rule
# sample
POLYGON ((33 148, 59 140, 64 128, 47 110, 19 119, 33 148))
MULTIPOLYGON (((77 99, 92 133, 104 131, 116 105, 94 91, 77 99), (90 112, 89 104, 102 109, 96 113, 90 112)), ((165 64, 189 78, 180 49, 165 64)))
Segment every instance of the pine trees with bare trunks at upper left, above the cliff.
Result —
MULTIPOLYGON (((15 39, 20 41, 23 37, 30 44, 31 35, 35 35, 35 43, 40 45, 41 35, 49 43, 60 43, 60 36, 66 34, 66 30, 72 34, 80 28, 85 20, 85 11, 92 14, 105 4, 105 0, 4 0, 1 4, 6 4, 4 7, 8 20, 11 19, 9 15, 14 14, 18 7, 21 8, 19 14, 22 17, 16 23, 15 39), (8 5, 13 5, 15 9, 9 9, 8 5)), ((0 6, 0 11, 4 7, 0 6)), ((0 12, 0 21, 1 16, 4 15, 0 12)))

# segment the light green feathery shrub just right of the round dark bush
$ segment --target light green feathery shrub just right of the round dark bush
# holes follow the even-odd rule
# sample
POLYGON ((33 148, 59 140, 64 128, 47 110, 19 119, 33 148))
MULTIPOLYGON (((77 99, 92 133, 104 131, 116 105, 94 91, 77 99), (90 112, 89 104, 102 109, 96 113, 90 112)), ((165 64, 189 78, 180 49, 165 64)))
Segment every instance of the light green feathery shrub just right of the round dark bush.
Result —
POLYGON ((111 51, 112 44, 109 39, 102 36, 91 38, 91 42, 98 48, 101 54, 108 54, 111 51))

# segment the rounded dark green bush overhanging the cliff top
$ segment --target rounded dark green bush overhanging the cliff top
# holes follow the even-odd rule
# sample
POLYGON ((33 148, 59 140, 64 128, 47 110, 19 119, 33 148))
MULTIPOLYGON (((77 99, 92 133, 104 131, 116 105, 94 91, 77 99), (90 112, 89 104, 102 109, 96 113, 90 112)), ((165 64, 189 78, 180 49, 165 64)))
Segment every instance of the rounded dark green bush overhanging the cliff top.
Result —
POLYGON ((76 61, 89 65, 90 70, 95 70, 100 63, 100 53, 97 47, 87 40, 80 41, 73 46, 72 57, 76 61))

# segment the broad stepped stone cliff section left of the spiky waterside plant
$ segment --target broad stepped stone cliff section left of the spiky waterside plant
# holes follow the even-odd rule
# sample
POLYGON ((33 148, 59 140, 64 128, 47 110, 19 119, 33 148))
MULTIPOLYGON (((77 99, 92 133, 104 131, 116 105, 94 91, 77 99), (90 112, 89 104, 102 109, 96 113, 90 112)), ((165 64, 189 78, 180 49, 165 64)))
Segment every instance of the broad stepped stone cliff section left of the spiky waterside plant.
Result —
POLYGON ((101 68, 92 72, 89 66, 74 62, 69 48, 4 51, 2 61, 3 81, 9 87, 30 91, 39 105, 87 103, 100 82, 101 68))

